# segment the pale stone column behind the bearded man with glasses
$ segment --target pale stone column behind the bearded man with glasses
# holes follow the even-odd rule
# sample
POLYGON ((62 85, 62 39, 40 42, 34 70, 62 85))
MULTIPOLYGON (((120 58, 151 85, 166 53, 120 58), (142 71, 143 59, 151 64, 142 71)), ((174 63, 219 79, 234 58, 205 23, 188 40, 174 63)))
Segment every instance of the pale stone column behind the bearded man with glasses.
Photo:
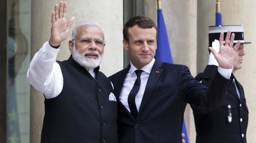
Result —
MULTIPOLYGON (((106 46, 104 60, 100 64, 100 71, 107 76, 123 69, 123 1, 120 0, 67 0, 68 19, 75 16, 72 29, 83 20, 98 22, 105 34, 106 46)), ((31 57, 41 48, 45 41, 50 38, 51 12, 53 1, 32 1, 31 14, 31 57)), ((71 39, 71 32, 67 40, 61 44, 57 60, 65 60, 70 56, 68 40, 71 39)), ((30 142, 39 143, 44 117, 44 96, 31 86, 30 99, 30 142)))

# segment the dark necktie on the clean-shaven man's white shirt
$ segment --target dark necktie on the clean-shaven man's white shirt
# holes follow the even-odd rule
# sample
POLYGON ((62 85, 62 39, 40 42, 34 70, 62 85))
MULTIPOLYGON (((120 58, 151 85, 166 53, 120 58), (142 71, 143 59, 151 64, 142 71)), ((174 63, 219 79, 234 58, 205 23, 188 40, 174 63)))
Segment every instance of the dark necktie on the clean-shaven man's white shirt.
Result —
POLYGON ((136 119, 137 114, 138 114, 138 110, 135 104, 135 97, 140 89, 140 74, 141 72, 143 72, 142 70, 136 70, 135 73, 137 75, 137 79, 135 80, 135 83, 132 87, 132 90, 128 96, 128 105, 131 111, 132 116, 134 117, 134 119, 136 119))

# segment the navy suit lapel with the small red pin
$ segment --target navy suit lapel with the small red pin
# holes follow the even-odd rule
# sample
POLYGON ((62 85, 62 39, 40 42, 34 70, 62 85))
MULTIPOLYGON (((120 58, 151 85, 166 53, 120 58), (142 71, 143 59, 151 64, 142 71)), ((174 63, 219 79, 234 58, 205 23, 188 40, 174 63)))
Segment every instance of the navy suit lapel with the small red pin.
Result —
POLYGON ((157 58, 156 61, 151 69, 151 72, 149 74, 148 77, 148 82, 143 94, 143 98, 140 104, 140 109, 139 109, 139 113, 137 115, 137 118, 140 116, 140 113, 142 111, 142 109, 144 108, 144 106, 146 105, 150 95, 152 94, 154 87, 156 85, 156 82, 158 81, 161 73, 162 73, 162 62, 160 62, 157 58))

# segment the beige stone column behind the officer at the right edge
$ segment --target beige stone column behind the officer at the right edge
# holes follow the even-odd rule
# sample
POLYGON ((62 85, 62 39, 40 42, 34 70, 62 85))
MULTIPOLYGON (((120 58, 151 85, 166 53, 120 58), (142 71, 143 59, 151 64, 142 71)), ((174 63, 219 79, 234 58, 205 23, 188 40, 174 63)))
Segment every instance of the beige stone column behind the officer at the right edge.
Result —
MULTIPOLYGON (((202 72, 208 63, 208 26, 215 25, 216 1, 198 0, 198 53, 197 72, 202 72)), ((256 41, 256 3, 253 0, 221 0, 221 15, 223 25, 244 25, 244 39, 251 44, 244 45, 243 67, 235 72, 236 79, 243 85, 244 94, 249 108, 249 123, 247 128, 247 142, 256 140, 256 93, 255 93, 255 41, 256 41)))

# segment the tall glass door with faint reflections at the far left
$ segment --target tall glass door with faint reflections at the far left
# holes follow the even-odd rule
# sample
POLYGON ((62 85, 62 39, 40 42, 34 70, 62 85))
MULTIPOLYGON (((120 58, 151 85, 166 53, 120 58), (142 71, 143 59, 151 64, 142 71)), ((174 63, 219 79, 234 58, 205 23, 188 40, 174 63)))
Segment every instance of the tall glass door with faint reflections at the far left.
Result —
POLYGON ((29 143, 31 0, 8 0, 7 143, 29 143))

